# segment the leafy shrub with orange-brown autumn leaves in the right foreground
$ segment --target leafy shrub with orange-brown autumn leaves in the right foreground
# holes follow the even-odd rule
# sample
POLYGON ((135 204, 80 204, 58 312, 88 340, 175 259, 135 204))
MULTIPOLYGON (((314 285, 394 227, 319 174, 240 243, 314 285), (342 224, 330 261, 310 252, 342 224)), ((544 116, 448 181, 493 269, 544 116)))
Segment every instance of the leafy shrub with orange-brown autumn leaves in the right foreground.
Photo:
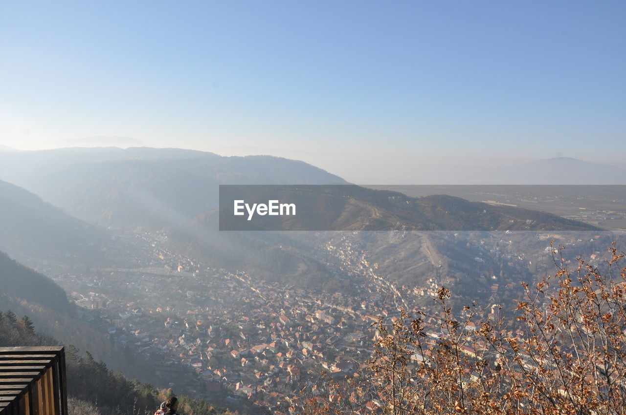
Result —
POLYGON ((626 267, 615 244, 609 252, 602 272, 555 257, 556 274, 523 283, 510 312, 472 305, 454 316, 441 287, 438 311, 379 320, 362 376, 376 388, 372 411, 626 414, 626 267))

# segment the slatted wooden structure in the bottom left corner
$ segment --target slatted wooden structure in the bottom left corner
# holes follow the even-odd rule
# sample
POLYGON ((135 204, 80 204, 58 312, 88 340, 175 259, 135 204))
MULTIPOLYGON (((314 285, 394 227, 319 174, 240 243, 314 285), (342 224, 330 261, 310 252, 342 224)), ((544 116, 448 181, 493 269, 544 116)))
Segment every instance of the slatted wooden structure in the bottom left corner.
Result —
POLYGON ((67 415, 63 347, 0 347, 0 415, 67 415))

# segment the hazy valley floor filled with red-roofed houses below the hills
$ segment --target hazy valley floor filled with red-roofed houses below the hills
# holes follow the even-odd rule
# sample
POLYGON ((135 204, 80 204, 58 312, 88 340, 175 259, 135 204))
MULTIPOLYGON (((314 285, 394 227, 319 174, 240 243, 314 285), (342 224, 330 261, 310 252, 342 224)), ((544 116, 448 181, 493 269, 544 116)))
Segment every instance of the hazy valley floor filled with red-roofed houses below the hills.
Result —
MULTIPOLYGON (((438 287, 453 291, 455 307, 476 301, 486 316, 493 304, 515 304, 522 281, 552 272, 552 251, 545 249, 551 237, 567 250, 591 237, 598 254, 610 243, 608 235, 589 232, 309 233, 299 237, 310 239, 310 251, 348 289, 312 290, 254 271, 213 267, 170 251, 163 232, 135 234, 144 252, 140 267, 51 277, 92 327, 153 367, 158 386, 253 413, 286 413, 307 379, 322 371, 342 378, 362 368, 376 336, 372 324, 379 318, 390 324, 401 310, 428 311, 438 287), (535 251, 520 243, 530 236, 535 251), (471 272, 449 271, 454 258, 441 250, 452 241, 476 255, 468 260, 471 272), (400 265, 403 271, 396 272, 415 272, 413 281, 387 274, 392 268, 382 258, 388 256, 376 252, 392 249, 398 259, 407 246, 416 246, 429 266, 424 272, 400 265)), ((434 321, 430 330, 433 336, 439 331, 434 321)))

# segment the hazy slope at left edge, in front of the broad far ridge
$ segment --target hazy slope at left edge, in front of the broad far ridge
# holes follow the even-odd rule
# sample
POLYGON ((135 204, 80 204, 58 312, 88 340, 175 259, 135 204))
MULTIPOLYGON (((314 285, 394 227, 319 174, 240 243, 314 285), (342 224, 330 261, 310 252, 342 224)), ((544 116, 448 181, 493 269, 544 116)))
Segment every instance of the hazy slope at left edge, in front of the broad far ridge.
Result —
POLYGON ((29 264, 95 263, 110 244, 105 231, 5 181, 0 181, 0 236, 0 249, 29 264))

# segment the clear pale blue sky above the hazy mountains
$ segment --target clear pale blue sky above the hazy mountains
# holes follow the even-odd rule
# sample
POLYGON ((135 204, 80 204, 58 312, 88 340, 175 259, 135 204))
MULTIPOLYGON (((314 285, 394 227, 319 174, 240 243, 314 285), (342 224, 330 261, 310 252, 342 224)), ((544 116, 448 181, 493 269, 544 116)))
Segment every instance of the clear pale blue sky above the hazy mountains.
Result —
POLYGON ((3 2, 0 144, 122 137, 355 183, 619 166, 625 18, 623 1, 3 2))

